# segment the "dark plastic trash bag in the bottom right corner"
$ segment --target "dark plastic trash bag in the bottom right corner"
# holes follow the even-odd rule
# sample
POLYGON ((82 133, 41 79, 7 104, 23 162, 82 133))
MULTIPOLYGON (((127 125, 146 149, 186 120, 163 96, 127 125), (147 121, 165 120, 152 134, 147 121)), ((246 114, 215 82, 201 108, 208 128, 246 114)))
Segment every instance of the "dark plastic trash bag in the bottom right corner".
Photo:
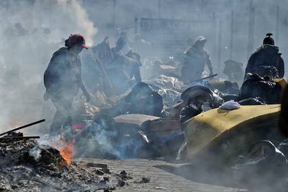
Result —
POLYGON ((235 180, 251 191, 282 191, 287 182, 287 159, 271 141, 254 143, 231 168, 235 180))

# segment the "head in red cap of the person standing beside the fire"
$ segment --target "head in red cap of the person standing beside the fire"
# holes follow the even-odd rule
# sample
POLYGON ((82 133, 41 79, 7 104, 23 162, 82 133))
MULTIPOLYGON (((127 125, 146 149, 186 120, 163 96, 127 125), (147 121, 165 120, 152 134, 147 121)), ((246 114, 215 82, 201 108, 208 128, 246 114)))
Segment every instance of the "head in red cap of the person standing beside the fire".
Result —
POLYGON ((65 40, 65 46, 74 54, 79 54, 83 48, 88 49, 84 37, 80 34, 71 34, 69 38, 65 40))

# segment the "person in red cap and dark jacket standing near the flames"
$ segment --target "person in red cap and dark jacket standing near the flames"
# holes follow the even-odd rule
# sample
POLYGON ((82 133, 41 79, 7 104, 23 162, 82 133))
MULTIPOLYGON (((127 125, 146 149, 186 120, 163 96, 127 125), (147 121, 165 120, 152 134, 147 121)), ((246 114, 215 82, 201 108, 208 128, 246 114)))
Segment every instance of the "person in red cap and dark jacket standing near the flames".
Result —
POLYGON ((57 110, 50 128, 51 135, 56 135, 62 125, 71 125, 71 106, 79 88, 83 91, 87 101, 90 99, 82 82, 79 53, 83 48, 87 49, 82 35, 69 36, 65 40, 65 47, 53 53, 44 73, 46 88, 44 99, 51 99, 57 110))

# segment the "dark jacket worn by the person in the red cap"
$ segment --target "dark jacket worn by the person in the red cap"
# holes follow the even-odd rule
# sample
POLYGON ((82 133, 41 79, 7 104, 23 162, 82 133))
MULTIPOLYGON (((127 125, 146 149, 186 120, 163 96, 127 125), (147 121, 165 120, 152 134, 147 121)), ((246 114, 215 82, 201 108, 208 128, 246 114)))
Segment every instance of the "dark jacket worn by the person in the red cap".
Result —
POLYGON ((82 88, 82 69, 80 56, 74 56, 66 47, 53 53, 44 73, 44 85, 50 95, 77 94, 82 88))

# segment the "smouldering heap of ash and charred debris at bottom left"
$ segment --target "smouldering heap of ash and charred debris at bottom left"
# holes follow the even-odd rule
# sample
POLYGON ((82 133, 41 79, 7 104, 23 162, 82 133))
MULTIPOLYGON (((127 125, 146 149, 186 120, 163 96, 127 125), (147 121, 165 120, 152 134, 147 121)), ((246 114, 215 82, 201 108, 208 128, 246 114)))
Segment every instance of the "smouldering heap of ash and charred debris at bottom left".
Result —
POLYGON ((22 133, 5 137, 0 140, 0 191, 112 191, 132 179, 125 171, 110 172, 107 165, 69 165, 58 149, 22 133))

